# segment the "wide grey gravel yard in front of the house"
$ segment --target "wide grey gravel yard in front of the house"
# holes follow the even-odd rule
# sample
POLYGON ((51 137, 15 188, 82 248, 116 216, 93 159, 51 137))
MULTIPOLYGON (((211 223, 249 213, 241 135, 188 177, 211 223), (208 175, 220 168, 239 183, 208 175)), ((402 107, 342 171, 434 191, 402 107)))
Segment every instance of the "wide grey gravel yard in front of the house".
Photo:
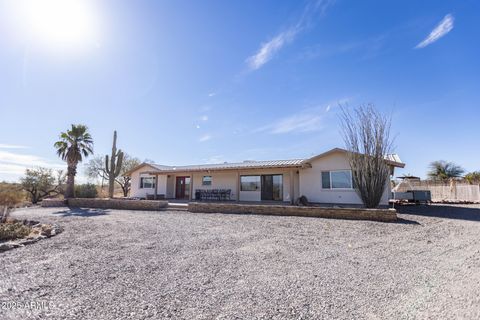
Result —
POLYGON ((0 319, 479 319, 480 206, 399 211, 18 210, 64 232, 0 253, 0 319))

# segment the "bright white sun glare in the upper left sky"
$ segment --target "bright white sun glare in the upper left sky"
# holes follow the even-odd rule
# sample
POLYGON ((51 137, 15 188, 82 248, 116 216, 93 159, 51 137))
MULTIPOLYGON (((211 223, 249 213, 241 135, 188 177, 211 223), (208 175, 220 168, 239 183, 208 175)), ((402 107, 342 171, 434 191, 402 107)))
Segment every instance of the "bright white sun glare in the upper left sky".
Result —
POLYGON ((98 46, 98 19, 90 0, 16 0, 17 21, 28 39, 49 49, 98 46))

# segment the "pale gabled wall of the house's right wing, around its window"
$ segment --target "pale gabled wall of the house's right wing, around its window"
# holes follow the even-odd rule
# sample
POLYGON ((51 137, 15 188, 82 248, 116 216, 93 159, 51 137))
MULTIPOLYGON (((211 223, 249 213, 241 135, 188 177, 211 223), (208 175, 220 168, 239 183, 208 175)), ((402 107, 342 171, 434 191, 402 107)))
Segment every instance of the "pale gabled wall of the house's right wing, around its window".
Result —
MULTIPOLYGON (((310 202, 362 205, 362 200, 355 190, 322 189, 322 171, 350 170, 348 157, 342 152, 335 152, 310 162, 311 168, 300 170, 300 195, 310 202)), ((390 183, 383 194, 381 205, 388 205, 390 183)))

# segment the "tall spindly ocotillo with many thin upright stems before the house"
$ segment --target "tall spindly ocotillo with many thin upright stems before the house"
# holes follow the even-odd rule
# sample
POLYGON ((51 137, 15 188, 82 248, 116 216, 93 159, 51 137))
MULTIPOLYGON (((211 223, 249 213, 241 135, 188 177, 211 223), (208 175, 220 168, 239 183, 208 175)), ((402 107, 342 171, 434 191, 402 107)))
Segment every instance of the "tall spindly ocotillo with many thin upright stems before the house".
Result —
POLYGON ((365 207, 376 208, 390 177, 385 155, 393 145, 391 120, 372 104, 360 106, 353 113, 342 107, 340 120, 355 190, 365 207))

